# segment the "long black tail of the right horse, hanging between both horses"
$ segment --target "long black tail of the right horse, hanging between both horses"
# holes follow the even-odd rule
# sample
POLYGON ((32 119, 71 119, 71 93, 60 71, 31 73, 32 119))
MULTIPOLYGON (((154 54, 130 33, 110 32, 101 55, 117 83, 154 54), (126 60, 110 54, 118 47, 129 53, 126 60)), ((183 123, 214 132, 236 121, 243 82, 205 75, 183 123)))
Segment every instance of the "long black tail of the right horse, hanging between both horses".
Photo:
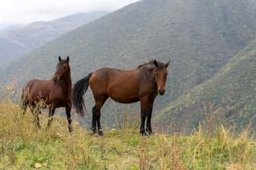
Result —
POLYGON ((73 90, 72 90, 72 102, 74 105, 74 109, 76 110, 77 114, 79 116, 84 116, 84 98, 83 95, 86 93, 88 86, 89 86, 89 80, 92 76, 92 73, 81 79, 80 81, 76 82, 73 90))

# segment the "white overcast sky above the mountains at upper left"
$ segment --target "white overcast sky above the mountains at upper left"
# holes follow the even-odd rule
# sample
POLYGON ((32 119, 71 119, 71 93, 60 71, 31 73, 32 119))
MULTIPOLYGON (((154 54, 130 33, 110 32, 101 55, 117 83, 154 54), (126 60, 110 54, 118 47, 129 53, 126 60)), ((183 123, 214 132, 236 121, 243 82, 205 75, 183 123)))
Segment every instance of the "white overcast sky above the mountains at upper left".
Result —
POLYGON ((0 25, 28 24, 95 10, 113 11, 138 0, 1 0, 0 25))

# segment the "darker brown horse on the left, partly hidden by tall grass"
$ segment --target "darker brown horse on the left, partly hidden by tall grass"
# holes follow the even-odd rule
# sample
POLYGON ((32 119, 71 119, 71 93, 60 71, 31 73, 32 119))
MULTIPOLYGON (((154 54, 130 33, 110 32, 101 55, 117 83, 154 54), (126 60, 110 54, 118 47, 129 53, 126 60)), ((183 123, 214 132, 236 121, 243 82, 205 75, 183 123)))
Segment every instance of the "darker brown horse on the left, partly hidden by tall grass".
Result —
POLYGON ((65 107, 68 130, 69 132, 72 132, 72 120, 70 114, 72 108, 71 91, 72 82, 69 58, 67 57, 66 60, 62 60, 61 57, 59 57, 56 72, 51 80, 43 81, 33 79, 24 85, 24 88, 22 89, 22 106, 24 113, 29 106, 35 117, 34 121, 38 128, 40 128, 38 114, 41 113, 41 109, 48 108, 49 120, 47 127, 50 127, 55 109, 58 107, 65 107))

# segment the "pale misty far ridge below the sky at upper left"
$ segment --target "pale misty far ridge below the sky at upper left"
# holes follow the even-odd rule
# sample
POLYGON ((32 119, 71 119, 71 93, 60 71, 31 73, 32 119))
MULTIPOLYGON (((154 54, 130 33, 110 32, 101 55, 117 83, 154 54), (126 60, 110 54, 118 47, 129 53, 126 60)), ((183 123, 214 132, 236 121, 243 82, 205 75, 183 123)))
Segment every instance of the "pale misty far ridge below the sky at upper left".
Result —
POLYGON ((106 13, 76 13, 58 20, 33 22, 23 27, 15 25, 5 27, 0 31, 0 65, 8 63, 12 59, 40 47, 72 29, 99 19, 106 13))

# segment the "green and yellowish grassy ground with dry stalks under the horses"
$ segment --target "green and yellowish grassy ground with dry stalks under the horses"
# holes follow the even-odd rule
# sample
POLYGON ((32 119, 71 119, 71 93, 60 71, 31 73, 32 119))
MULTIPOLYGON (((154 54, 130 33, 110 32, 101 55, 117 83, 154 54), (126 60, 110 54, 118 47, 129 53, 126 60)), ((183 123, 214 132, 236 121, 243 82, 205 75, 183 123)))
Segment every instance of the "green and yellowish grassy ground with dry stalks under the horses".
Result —
MULTIPOLYGON (((236 134, 224 127, 212 136, 199 128, 182 135, 142 137, 138 129, 104 130, 91 135, 76 121, 68 133, 67 121, 54 117, 45 130, 47 116, 35 128, 31 114, 20 114, 18 105, 0 100, 0 169, 253 169, 256 144, 250 130, 236 134)), ((73 120, 76 120, 73 118, 73 120)), ((128 126, 127 126, 128 127, 128 126)))

